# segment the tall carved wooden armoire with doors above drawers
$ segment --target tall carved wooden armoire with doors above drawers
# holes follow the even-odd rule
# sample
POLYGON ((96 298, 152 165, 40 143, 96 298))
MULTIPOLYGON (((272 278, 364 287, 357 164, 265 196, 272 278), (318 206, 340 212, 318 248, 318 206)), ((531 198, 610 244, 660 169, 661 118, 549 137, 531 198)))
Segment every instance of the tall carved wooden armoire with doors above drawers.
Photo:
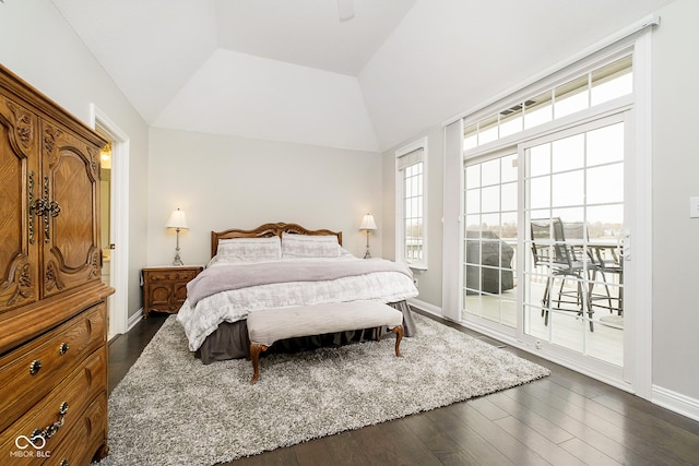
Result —
POLYGON ((0 463, 107 454, 102 136, 0 65, 0 463))

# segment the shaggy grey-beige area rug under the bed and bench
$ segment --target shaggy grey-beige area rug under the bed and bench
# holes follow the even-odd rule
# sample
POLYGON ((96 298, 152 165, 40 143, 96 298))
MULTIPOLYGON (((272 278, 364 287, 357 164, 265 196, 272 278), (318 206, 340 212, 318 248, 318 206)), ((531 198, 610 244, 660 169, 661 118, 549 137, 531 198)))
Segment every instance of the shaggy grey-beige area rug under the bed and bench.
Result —
POLYGON ((415 315, 417 336, 201 363, 168 318, 109 397, 100 465, 213 465, 435 409, 549 374, 415 315))

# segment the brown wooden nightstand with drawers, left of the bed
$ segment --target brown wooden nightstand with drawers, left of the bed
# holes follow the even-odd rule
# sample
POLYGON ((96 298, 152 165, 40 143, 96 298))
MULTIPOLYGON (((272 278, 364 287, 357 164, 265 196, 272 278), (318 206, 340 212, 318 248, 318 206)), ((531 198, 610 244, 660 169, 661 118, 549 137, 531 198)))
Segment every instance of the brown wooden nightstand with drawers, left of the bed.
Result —
POLYGON ((187 284, 203 270, 201 265, 143 268, 143 319, 151 311, 177 313, 187 299, 187 284))

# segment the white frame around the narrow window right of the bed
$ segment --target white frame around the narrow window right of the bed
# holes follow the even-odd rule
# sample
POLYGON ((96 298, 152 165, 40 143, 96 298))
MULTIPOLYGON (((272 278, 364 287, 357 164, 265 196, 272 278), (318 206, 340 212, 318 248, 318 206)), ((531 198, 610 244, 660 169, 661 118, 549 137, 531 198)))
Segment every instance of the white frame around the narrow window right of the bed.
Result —
MULTIPOLYGON (((428 174, 427 136, 420 138, 395 151, 395 260, 418 271, 427 270, 427 174, 428 174), (423 258, 419 261, 405 256, 405 184, 404 169, 400 168, 400 159, 416 151, 423 151, 422 164, 422 220, 423 220, 423 258)), ((405 167, 406 168, 406 167, 405 167)))

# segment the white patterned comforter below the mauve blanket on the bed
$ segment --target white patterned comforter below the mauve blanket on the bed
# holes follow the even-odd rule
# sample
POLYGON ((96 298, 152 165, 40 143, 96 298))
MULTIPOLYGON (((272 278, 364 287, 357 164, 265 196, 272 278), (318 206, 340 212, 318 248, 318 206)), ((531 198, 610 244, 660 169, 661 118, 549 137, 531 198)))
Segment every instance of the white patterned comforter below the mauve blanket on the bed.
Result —
POLYGON ((395 302, 413 298, 417 294, 417 288, 408 276, 396 272, 375 272, 332 280, 289 282, 222 291, 202 298, 196 306, 191 306, 189 300, 185 301, 177 320, 185 327, 189 349, 196 351, 218 324, 242 320, 249 312, 365 299, 395 302))

